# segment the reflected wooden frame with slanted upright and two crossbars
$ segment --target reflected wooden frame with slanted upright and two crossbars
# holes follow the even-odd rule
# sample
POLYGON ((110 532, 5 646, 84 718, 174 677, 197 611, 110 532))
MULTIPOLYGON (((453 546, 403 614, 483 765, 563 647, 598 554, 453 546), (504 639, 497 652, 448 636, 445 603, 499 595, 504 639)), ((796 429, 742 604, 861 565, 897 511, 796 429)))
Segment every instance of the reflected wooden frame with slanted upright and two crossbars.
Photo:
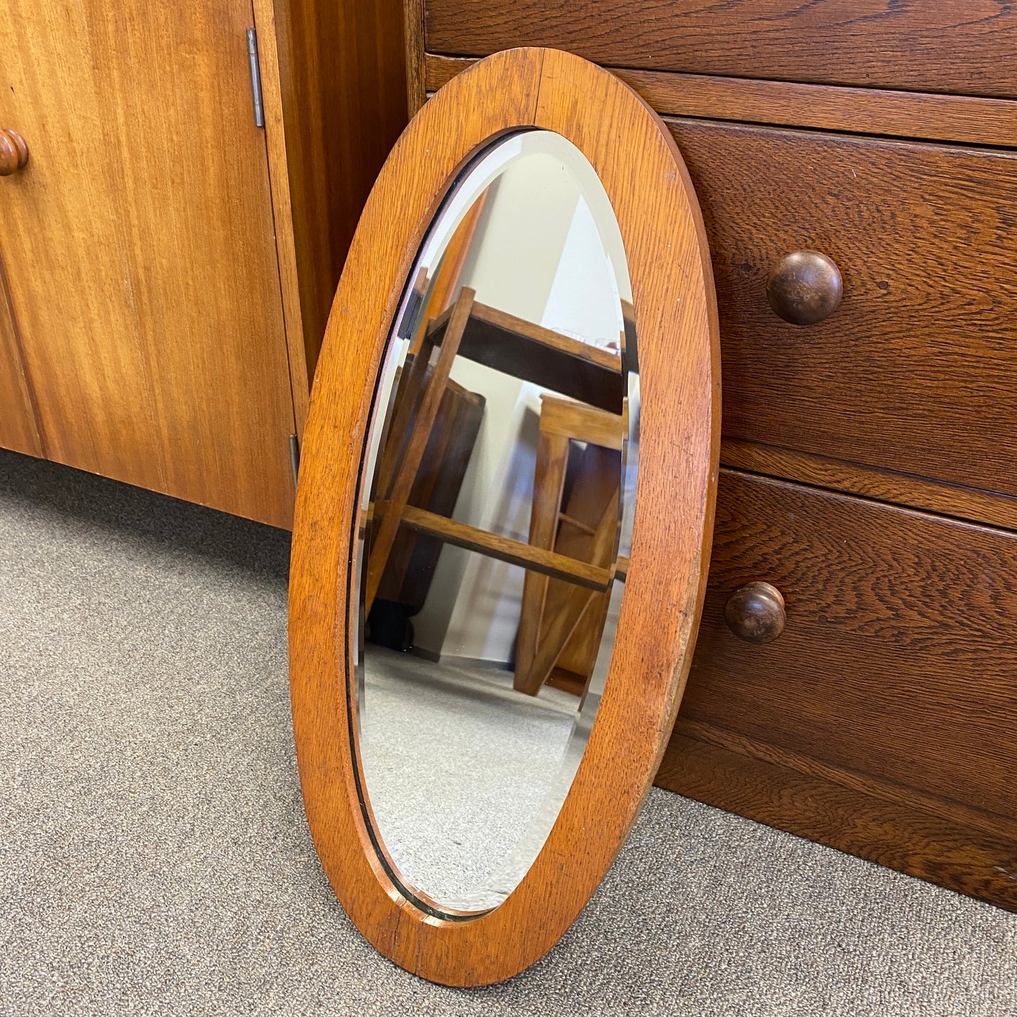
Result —
MULTIPOLYGON (((409 504, 421 456, 434 429, 457 356, 593 406, 613 407, 620 433, 622 417, 617 412, 622 406, 620 354, 488 307, 474 297, 472 289, 461 287, 456 302, 425 328, 407 374, 405 392, 386 427, 372 502, 364 586, 368 613, 401 526, 590 589, 603 591, 609 585, 609 562, 590 564, 532 541, 526 544, 487 533, 409 504), (432 364, 435 351, 437 356, 432 364)), ((606 409, 600 412, 608 415, 606 409)), ((601 429, 603 426, 600 425, 601 429)))

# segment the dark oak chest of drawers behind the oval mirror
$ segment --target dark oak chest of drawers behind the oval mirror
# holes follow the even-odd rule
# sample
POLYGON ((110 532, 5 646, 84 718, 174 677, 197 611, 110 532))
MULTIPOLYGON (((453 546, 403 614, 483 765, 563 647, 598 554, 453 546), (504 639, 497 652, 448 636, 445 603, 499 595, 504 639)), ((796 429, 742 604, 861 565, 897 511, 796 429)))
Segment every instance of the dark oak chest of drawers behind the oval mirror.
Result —
POLYGON ((666 118, 703 206, 725 468, 658 783, 1017 907, 1017 9, 407 10, 416 104, 492 50, 573 50, 666 118), (816 252, 825 314, 791 323, 816 252), (785 601, 765 645, 724 620, 753 582, 785 601))

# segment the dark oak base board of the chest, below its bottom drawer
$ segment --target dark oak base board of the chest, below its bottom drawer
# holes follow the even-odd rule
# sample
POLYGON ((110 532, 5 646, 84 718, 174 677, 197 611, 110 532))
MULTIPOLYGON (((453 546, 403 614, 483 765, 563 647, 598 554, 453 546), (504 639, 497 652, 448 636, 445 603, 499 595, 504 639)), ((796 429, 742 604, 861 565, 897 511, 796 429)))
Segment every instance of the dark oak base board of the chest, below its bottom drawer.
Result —
POLYGON ((680 717, 656 783, 1017 910, 1017 839, 690 737, 680 717))

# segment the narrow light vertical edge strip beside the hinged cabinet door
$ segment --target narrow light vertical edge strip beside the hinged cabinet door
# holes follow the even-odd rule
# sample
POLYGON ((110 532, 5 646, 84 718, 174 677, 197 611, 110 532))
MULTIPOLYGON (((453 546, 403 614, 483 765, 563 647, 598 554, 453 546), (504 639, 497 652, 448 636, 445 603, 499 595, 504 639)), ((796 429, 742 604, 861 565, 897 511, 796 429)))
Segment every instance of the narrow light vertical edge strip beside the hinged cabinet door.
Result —
MULTIPOLYGON (((297 249, 290 201, 290 172, 286 160, 286 125, 279 68, 280 39, 276 32, 273 0, 251 0, 254 31, 257 33, 258 64, 261 71, 261 104, 264 109, 264 142, 268 160, 272 215, 276 228, 279 284, 283 294, 283 321, 286 352, 290 364, 290 393, 297 438, 303 441, 304 422, 310 397, 304 320, 300 307, 297 249)), ((285 31, 285 26, 284 26, 285 31)), ((286 42, 285 38, 282 40, 286 42)), ((280 453, 282 455, 282 453, 280 453)))

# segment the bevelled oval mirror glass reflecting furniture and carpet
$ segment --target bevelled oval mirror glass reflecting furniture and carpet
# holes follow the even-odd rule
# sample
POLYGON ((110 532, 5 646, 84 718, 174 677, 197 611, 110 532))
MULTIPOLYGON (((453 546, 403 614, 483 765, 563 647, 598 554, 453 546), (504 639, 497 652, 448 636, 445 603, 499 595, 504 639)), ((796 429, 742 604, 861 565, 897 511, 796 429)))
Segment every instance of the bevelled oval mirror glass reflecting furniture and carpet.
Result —
POLYGON ((436 913, 497 906, 576 774, 624 587, 638 418, 607 195, 559 135, 502 138, 417 259, 360 488, 365 815, 436 913))

